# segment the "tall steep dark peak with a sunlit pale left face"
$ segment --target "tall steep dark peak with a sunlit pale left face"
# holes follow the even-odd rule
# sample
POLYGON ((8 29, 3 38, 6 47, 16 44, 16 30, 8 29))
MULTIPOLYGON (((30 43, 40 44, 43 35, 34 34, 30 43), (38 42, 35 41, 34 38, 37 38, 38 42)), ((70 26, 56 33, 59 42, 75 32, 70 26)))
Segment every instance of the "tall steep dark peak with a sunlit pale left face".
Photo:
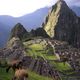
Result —
POLYGON ((77 45, 80 40, 76 40, 80 34, 79 19, 64 0, 58 0, 52 6, 42 26, 51 38, 68 41, 74 46, 80 45, 77 45))

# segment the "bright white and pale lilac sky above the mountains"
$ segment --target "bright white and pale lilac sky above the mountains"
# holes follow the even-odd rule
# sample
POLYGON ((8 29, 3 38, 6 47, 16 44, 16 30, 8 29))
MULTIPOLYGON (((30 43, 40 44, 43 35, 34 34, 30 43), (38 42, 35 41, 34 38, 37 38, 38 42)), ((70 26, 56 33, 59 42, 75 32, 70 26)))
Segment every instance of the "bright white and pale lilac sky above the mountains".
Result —
MULTIPOLYGON (((80 0, 65 0, 69 6, 79 6, 80 0)), ((0 0, 0 15, 20 17, 43 7, 50 7, 57 0, 0 0)))

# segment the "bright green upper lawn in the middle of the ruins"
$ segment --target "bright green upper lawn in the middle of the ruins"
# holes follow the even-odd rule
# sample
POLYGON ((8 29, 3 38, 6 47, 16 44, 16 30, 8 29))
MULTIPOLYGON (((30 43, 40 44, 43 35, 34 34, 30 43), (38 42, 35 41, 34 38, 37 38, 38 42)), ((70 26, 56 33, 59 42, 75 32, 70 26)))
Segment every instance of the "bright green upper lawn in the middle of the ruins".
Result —
MULTIPOLYGON (((30 43, 30 41, 29 41, 30 43)), ((27 44, 24 44, 27 47, 27 44)), ((48 60, 54 60, 55 56, 52 54, 53 51, 50 49, 45 50, 46 46, 43 44, 32 44, 28 46, 27 55, 29 56, 41 56, 48 60), (51 51, 51 54, 48 54, 51 51)))

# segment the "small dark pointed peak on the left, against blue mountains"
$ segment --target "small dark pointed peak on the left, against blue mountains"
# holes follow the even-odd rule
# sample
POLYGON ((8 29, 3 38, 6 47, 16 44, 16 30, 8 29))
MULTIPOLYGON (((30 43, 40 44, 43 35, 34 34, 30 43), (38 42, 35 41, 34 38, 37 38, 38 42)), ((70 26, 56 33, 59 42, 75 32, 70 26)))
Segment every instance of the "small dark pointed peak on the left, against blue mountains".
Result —
POLYGON ((18 37, 20 40, 22 40, 27 36, 29 36, 29 33, 26 31, 22 24, 18 23, 11 30, 10 39, 13 37, 18 37))

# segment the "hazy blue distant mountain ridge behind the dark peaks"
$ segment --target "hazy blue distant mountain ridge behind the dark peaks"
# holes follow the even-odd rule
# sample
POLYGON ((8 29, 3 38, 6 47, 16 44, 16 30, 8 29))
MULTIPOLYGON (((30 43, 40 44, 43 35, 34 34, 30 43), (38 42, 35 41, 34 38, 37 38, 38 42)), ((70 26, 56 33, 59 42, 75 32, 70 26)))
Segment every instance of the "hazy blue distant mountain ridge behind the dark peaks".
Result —
MULTIPOLYGON (((77 13, 77 15, 79 15, 80 8, 71 8, 77 13)), ((48 14, 49 9, 50 8, 48 7, 44 7, 31 14, 24 15, 19 18, 14 18, 7 15, 0 16, 0 46, 5 44, 6 40, 8 39, 10 30, 14 27, 15 24, 19 22, 29 31, 31 29, 36 29, 40 27, 46 15, 48 14)))

